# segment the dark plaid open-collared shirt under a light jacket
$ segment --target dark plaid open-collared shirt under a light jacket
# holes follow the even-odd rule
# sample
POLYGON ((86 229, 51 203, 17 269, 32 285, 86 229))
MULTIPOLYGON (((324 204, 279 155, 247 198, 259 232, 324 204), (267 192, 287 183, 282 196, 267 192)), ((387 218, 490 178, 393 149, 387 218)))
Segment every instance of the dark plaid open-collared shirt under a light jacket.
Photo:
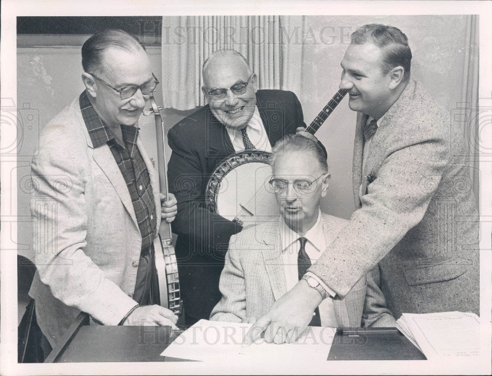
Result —
POLYGON ((122 124, 122 144, 97 115, 85 91, 80 94, 79 105, 94 148, 107 144, 115 157, 135 210, 142 235, 142 253, 147 253, 156 234, 157 222, 149 172, 137 147, 140 128, 122 124))

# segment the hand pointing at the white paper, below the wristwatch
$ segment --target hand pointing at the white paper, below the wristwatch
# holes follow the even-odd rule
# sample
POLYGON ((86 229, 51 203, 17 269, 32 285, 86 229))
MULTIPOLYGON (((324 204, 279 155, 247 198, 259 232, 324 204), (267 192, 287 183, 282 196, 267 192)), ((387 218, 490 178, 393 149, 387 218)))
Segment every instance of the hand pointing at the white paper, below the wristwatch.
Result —
POLYGON ((302 279, 272 305, 270 312, 258 318, 246 333, 243 346, 257 341, 263 332, 266 342, 295 342, 306 329, 321 301, 320 293, 302 279))

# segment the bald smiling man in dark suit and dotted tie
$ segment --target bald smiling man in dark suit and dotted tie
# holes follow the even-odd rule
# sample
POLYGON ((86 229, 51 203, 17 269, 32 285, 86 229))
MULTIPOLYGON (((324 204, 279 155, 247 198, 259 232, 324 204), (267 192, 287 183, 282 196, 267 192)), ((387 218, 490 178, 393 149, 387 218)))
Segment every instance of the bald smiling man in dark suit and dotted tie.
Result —
POLYGON ((169 189, 178 200, 172 226, 178 234, 176 255, 187 325, 208 319, 220 300, 218 282, 229 239, 242 230, 205 207, 211 174, 224 158, 246 148, 271 151, 284 135, 306 126, 296 95, 258 90, 256 74, 238 52, 215 52, 203 64, 202 74, 208 105, 168 134, 169 189))

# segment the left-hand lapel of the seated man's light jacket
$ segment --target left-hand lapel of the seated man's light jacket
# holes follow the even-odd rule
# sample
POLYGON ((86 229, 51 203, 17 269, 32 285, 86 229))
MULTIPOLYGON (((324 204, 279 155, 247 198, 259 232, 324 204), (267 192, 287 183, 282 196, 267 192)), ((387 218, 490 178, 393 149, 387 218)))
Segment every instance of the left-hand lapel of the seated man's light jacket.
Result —
POLYGON ((263 262, 267 270, 274 298, 277 300, 287 292, 287 282, 285 281, 280 249, 278 221, 269 223, 262 240, 265 244, 265 247, 261 250, 263 262))

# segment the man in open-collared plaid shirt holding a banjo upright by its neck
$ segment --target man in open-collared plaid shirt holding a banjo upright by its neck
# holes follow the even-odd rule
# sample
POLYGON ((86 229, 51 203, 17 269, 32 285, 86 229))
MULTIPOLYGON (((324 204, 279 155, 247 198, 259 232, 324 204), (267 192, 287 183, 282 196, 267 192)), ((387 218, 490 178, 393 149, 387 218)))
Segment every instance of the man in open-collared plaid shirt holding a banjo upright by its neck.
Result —
MULTIPOLYGON (((35 299, 45 358, 79 312, 105 325, 171 325, 154 254, 162 216, 158 174, 138 119, 158 84, 143 46, 123 30, 82 46, 86 89, 47 124, 31 164, 35 299)), ((164 291, 165 294, 165 291, 164 291)), ((42 359, 40 359, 42 361, 42 359)))

